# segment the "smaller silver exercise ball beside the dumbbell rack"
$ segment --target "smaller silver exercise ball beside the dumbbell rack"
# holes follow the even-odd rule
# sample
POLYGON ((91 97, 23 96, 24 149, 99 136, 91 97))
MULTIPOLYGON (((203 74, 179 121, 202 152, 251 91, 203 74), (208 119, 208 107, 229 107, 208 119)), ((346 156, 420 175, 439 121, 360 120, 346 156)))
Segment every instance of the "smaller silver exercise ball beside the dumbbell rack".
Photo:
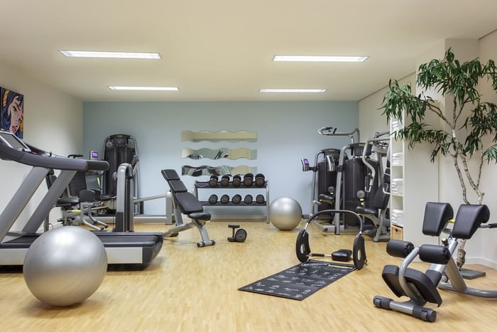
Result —
POLYGON ((301 219, 302 208, 293 198, 276 198, 269 207, 269 220, 280 230, 293 230, 301 219))

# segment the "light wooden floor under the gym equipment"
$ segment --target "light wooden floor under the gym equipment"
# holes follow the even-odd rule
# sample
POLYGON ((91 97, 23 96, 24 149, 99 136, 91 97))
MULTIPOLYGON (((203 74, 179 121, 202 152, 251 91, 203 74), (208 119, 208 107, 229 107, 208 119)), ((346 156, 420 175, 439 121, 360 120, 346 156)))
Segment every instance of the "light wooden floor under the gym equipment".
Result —
MULTIPOLYGON (((107 272, 102 286, 82 304, 55 308, 28 291, 21 273, 0 273, 1 331, 497 331, 497 302, 441 291, 437 321, 377 309, 373 296, 394 298, 381 279, 385 243, 366 240, 368 264, 304 301, 238 291, 241 286, 297 264, 297 230, 283 232, 262 222, 240 223, 249 232, 231 243, 225 222, 209 223, 214 247, 197 248, 197 230, 167 239, 142 271, 107 272), (444 330, 442 330, 442 328, 444 330)), ((165 230, 137 225, 136 230, 165 230)), ((316 252, 350 248, 352 235, 323 235, 312 227, 316 252)), ((481 268, 481 267, 480 267, 481 268)), ((497 289, 497 272, 471 282, 497 289)))

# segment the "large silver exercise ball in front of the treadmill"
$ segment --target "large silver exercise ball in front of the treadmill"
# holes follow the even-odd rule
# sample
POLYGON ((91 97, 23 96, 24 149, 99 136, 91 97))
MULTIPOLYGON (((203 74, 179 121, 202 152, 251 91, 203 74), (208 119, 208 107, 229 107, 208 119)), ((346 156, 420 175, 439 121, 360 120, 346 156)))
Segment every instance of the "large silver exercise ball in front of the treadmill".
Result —
POLYGON ((43 233, 24 258, 24 280, 45 304, 70 306, 97 291, 107 272, 107 252, 97 235, 77 226, 43 233))

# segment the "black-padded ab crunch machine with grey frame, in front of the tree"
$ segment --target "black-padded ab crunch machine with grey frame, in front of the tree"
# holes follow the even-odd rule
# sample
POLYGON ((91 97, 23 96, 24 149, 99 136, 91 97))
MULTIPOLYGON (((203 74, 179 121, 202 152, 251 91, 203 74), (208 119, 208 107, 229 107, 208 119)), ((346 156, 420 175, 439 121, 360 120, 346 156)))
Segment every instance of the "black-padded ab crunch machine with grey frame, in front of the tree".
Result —
MULTIPOLYGON (((454 215, 447 203, 427 203, 422 232, 425 235, 439 236, 454 215)), ((437 312, 425 307, 427 302, 442 304, 437 287, 461 294, 488 299, 497 298, 497 291, 482 290, 466 286, 452 255, 457 250, 458 240, 469 240, 479 228, 495 228, 497 223, 482 225, 490 218, 486 205, 461 205, 457 211, 454 226, 448 239, 442 245, 422 245, 414 247, 411 242, 391 240, 387 245, 388 255, 403 258, 400 267, 386 265, 381 276, 388 287, 398 297, 408 296, 409 301, 398 302, 383 296, 374 296, 373 304, 378 308, 402 312, 423 321, 435 321, 437 312), (426 272, 409 268, 409 264, 419 257, 431 263, 426 272)))

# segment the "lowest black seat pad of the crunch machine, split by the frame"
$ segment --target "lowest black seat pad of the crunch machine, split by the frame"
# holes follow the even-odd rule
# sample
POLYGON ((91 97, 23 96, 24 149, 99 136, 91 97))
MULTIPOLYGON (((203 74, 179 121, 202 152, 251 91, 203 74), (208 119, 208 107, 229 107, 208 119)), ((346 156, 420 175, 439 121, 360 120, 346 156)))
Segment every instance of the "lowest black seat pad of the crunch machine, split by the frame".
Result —
MULTIPOLYGON (((381 277, 385 283, 393 291, 396 296, 407 296, 405 291, 400 287, 400 282, 398 279, 399 268, 396 265, 385 265, 383 267, 383 272, 381 277)), ((442 274, 434 271, 427 270, 426 273, 420 272, 417 269, 406 269, 405 270, 405 280, 408 284, 411 284, 425 301, 440 306, 442 304, 442 297, 440 297, 437 291, 437 285, 442 279, 442 274)))

